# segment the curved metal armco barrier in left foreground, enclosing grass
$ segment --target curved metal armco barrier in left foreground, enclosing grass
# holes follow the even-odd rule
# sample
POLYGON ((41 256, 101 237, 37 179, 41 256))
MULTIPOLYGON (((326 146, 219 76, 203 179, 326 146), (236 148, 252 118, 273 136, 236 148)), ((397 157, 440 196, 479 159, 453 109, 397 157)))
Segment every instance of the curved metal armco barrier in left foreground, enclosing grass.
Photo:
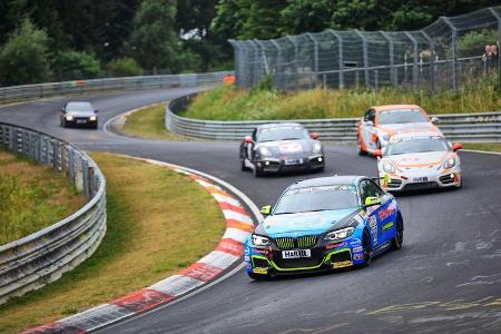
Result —
POLYGON ((58 279, 88 258, 106 233, 106 179, 73 146, 35 130, 0 122, 0 146, 63 171, 88 203, 71 216, 0 246, 0 304, 58 279))

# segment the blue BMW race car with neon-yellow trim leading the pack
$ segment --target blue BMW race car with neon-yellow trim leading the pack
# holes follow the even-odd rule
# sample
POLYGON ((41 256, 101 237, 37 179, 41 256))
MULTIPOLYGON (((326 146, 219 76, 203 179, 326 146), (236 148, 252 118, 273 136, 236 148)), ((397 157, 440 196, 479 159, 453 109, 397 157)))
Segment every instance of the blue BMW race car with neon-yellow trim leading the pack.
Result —
POLYGON ((245 243, 247 274, 281 274, 367 266, 400 249, 403 218, 393 195, 371 178, 333 176, 296 181, 245 243))

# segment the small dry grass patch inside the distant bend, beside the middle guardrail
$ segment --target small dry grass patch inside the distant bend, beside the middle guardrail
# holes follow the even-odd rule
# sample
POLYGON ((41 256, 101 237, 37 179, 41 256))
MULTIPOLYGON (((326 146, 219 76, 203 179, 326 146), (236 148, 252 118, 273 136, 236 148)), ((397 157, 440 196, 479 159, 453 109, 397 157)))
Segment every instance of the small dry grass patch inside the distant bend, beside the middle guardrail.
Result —
POLYGON ((165 104, 143 108, 126 117, 124 134, 147 139, 165 139, 173 141, 187 140, 174 135, 165 128, 165 104))

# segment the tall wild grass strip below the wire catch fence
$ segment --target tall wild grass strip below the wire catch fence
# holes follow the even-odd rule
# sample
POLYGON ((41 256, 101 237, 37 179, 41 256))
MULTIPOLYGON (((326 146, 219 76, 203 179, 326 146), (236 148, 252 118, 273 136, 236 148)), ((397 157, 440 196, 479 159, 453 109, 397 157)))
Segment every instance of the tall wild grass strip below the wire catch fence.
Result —
POLYGON ((361 117, 376 105, 416 104, 430 114, 494 111, 501 109, 497 76, 472 81, 459 94, 411 91, 397 88, 279 92, 271 89, 239 90, 222 86, 198 95, 181 116, 214 120, 308 119, 361 117))

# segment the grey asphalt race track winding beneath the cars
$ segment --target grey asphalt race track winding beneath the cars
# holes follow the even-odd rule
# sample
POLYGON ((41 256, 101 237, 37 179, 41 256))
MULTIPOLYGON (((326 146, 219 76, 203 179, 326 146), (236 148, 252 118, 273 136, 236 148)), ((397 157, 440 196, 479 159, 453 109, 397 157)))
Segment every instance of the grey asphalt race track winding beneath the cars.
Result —
MULTIPOLYGON (((179 164, 217 176, 256 205, 273 204, 291 183, 321 175, 374 175, 354 146, 326 145, 322 174, 254 178, 239 170, 238 143, 169 143, 102 130, 124 111, 195 89, 89 97, 99 130, 62 129, 62 99, 0 108, 0 120, 35 128, 88 150, 179 164)), ((470 333, 501 327, 501 156, 461 153, 463 188, 401 196, 402 250, 371 267, 252 282, 239 271, 198 294, 102 333, 470 333)), ((189 243, 189 240, 186 240, 189 243)))

